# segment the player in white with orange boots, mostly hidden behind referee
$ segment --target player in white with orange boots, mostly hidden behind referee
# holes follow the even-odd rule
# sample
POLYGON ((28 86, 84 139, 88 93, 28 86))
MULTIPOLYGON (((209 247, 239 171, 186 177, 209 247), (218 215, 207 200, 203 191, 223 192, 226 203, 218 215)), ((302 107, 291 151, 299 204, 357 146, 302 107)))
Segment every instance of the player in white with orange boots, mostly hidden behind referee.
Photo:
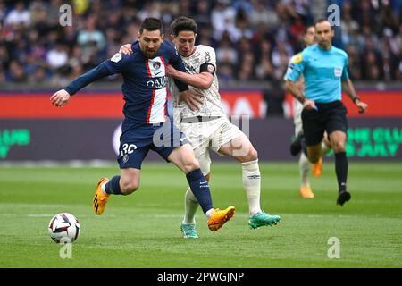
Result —
MULTIPOLYGON (((315 44, 315 27, 314 25, 308 26, 306 33, 303 37, 303 42, 306 46, 312 46, 315 44)), ((297 57, 297 55, 295 55, 297 57)), ((292 57, 290 62, 294 59, 292 57)), ((286 77, 284 78, 286 80, 286 77)), ((304 80, 303 77, 297 81, 297 88, 304 91, 304 80)), ((303 111, 303 105, 298 101, 294 100, 295 112, 293 116, 293 122, 295 124, 295 136, 296 140, 292 143, 290 147, 290 152, 293 156, 297 156, 302 148, 301 140, 303 140, 303 125, 301 119, 301 112, 303 111)), ((331 151, 331 143, 326 139, 326 134, 322 139, 322 155, 327 154, 331 151)), ((304 152, 301 152, 300 158, 298 160, 298 167, 300 172, 300 196, 302 198, 314 198, 314 192, 310 187, 310 181, 308 180, 308 173, 310 172, 311 163, 304 152)), ((319 177, 322 173, 322 158, 314 164, 313 172, 315 177, 319 177)))

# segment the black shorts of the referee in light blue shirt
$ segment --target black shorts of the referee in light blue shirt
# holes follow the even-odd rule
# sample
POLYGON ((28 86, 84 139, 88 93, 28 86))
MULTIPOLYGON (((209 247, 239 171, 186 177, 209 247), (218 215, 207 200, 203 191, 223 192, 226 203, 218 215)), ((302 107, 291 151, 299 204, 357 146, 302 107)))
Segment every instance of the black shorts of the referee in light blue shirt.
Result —
POLYGON ((303 133, 307 146, 318 145, 322 141, 324 130, 330 135, 333 131, 347 133, 347 109, 340 100, 330 103, 315 103, 318 110, 303 109, 303 133))

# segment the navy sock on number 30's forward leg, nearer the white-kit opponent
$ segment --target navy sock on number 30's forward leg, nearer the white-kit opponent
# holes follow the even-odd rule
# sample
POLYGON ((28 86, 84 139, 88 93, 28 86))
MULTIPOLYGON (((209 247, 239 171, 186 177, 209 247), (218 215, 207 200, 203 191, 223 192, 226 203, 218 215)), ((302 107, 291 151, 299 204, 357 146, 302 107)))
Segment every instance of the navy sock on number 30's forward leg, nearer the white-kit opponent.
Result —
POLYGON ((213 208, 208 181, 206 181, 200 169, 188 172, 186 177, 191 191, 197 198, 197 201, 205 214, 207 211, 213 208))

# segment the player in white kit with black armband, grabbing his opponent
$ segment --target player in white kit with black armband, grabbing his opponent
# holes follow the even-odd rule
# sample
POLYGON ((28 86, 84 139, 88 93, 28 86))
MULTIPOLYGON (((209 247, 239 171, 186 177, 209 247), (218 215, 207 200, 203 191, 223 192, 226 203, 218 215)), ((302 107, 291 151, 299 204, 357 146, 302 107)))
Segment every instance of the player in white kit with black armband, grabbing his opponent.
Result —
MULTIPOLYGON (((214 48, 195 46, 197 23, 193 19, 179 17, 172 21, 171 28, 172 42, 187 71, 176 71, 172 66, 166 69, 176 126, 191 141, 206 180, 209 181, 210 178, 210 150, 239 161, 250 215, 248 225, 251 228, 279 223, 279 215, 266 214, 260 206, 261 174, 255 148, 247 136, 230 123, 222 110, 214 48), (193 93, 189 97, 180 98, 173 78, 188 83, 199 92, 199 96, 193 93)), ((122 53, 129 52, 123 47, 130 46, 121 47, 122 53)), ((188 188, 185 195, 185 215, 180 225, 184 238, 198 238, 195 221, 197 207, 197 198, 188 188)))

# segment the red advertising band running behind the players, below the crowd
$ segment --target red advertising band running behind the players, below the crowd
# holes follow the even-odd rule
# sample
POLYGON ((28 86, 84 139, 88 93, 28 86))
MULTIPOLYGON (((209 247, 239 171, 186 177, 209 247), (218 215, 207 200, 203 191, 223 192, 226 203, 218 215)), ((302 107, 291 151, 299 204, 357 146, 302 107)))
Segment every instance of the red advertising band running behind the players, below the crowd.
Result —
MULTIPOLYGON (((359 91, 369 105, 364 117, 402 117, 402 91, 359 91)), ((223 91, 222 107, 228 115, 249 115, 264 118, 265 104, 261 91, 223 91)), ((69 105, 56 108, 50 104, 49 93, 0 94, 0 118, 122 118, 122 100, 119 92, 81 93, 69 105)), ((285 117, 293 116, 293 97, 286 96, 283 106, 285 117)), ((348 116, 362 116, 346 96, 348 116)))

